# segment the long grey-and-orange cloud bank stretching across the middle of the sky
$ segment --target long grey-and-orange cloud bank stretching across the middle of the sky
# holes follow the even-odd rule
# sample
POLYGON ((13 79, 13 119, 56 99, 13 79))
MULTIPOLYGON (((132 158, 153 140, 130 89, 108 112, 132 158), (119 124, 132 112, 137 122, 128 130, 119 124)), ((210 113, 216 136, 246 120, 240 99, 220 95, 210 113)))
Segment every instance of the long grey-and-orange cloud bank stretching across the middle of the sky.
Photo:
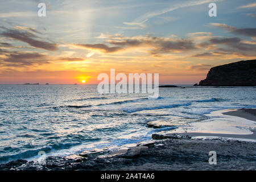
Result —
MULTIPOLYGON (((144 51, 151 55, 158 55, 161 53, 183 52, 196 49, 195 44, 190 39, 178 38, 162 38, 157 36, 141 35, 141 36, 123 36, 123 35, 101 35, 101 38, 107 39, 106 44, 71 44, 73 47, 84 48, 93 51, 100 51, 102 53, 115 53, 119 51, 127 51, 127 49, 137 48, 136 52, 144 51), (141 49, 140 49, 141 48, 141 49)), ((133 52, 134 49, 133 49, 133 52)))

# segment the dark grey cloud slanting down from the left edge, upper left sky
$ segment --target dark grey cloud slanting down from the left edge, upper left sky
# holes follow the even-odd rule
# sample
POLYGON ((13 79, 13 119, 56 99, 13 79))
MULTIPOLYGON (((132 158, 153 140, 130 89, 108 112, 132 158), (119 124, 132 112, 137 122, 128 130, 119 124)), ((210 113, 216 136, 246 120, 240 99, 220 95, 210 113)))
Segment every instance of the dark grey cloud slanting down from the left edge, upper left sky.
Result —
MULTIPOLYGON (((33 31, 32 29, 30 31, 28 31, 26 28, 23 28, 23 30, 11 30, 9 28, 5 28, 5 27, 0 27, 2 28, 3 32, 0 33, 1 36, 4 36, 6 38, 11 38, 11 39, 15 39, 15 40, 19 40, 22 42, 26 42, 28 44, 30 44, 30 46, 32 47, 36 47, 36 48, 42 48, 42 49, 46 49, 48 51, 56 51, 57 50, 57 44, 55 43, 49 43, 49 42, 45 42, 42 40, 36 40, 39 39, 38 36, 32 34, 33 31)), ((34 30, 34 32, 36 32, 34 30)))

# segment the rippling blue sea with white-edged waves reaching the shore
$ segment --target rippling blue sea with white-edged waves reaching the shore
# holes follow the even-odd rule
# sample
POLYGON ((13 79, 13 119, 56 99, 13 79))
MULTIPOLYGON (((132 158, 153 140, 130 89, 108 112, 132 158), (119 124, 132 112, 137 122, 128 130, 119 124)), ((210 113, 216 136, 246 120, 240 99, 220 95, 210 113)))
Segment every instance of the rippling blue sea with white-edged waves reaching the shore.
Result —
POLYGON ((157 100, 99 94, 97 85, 0 85, 0 92, 0 163, 137 143, 211 111, 256 107, 255 88, 159 88, 157 100), (173 127, 148 128, 149 121, 173 127))

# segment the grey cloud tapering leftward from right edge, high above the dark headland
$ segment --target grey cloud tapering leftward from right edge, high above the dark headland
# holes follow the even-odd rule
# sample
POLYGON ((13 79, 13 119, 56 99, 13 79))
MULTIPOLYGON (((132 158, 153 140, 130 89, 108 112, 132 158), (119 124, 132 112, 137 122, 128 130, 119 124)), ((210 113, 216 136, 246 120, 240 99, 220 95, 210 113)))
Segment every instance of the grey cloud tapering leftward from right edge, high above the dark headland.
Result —
POLYGON ((224 23, 210 23, 210 25, 224 28, 225 30, 228 30, 237 35, 244 35, 244 36, 251 36, 251 37, 256 36, 256 28, 236 28, 236 27, 228 26, 227 24, 224 24, 224 23))

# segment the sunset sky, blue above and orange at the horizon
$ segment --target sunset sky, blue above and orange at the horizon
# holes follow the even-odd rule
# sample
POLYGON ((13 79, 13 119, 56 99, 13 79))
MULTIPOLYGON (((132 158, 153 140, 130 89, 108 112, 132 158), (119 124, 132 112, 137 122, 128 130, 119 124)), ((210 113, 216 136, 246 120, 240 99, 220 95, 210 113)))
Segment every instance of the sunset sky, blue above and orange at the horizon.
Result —
POLYGON ((255 59, 255 10, 255 0, 1 1, 0 84, 97 84, 113 68, 195 84, 209 68, 255 59))

